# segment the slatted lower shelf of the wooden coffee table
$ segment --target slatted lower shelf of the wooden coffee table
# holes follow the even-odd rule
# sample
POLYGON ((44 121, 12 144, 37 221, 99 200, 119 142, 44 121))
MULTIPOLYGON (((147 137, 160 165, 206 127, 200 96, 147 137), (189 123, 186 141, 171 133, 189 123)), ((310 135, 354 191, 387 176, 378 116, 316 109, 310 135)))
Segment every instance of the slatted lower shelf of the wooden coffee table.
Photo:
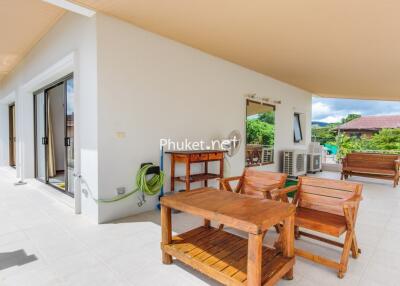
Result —
MULTIPOLYGON (((226 285, 246 285, 247 239, 199 227, 173 237, 163 250, 198 271, 226 285)), ((263 247, 262 285, 274 285, 294 265, 294 258, 263 247)))

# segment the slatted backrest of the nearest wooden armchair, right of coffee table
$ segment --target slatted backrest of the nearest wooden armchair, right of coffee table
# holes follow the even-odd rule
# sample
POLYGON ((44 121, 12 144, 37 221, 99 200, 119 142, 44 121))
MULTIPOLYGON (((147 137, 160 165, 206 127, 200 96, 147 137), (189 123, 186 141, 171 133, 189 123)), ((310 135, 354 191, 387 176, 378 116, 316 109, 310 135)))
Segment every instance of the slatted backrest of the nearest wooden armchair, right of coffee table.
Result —
POLYGON ((343 202, 361 192, 360 183, 300 177, 298 206, 343 216, 343 202))

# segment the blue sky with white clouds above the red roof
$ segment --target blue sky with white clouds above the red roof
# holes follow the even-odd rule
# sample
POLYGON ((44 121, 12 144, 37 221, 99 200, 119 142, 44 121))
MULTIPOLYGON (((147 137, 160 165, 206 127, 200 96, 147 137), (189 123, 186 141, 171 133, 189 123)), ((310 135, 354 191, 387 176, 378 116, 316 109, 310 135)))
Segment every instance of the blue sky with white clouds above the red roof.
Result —
POLYGON ((313 121, 335 123, 350 113, 360 115, 400 115, 400 101, 313 97, 313 121))

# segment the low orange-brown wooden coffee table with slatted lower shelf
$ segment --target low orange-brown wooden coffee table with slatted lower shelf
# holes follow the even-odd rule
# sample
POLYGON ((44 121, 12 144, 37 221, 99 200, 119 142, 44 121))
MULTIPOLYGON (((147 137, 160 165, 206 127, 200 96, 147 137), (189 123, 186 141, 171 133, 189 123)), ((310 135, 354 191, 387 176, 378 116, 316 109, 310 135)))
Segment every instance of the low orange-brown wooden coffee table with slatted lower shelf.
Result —
POLYGON ((162 261, 172 257, 225 285, 274 285, 293 278, 291 204, 202 188, 161 198, 162 261), (204 218, 204 226, 172 237, 171 208, 204 218), (210 226, 210 220, 248 233, 248 240, 210 226), (283 222, 281 249, 263 246, 263 233, 283 222))

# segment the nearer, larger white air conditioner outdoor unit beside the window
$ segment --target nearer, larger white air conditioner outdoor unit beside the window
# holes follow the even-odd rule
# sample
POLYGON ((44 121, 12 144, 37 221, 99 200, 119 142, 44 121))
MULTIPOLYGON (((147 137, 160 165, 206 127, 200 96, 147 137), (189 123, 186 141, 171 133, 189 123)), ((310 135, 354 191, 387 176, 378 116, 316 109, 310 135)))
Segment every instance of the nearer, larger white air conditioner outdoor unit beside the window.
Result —
POLYGON ((283 151, 283 172, 290 177, 307 174, 307 151, 300 149, 283 151))

